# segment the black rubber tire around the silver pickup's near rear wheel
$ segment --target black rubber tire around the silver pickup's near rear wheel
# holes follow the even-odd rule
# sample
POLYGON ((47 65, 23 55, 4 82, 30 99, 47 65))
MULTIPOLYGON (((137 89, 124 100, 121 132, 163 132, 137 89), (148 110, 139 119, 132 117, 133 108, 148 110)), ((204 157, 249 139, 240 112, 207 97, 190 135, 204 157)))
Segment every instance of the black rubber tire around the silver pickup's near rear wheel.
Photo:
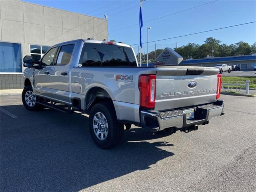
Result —
MULTIPOLYGON (((97 117, 98 115, 96 115, 97 117)), ((106 124, 104 124, 105 126, 106 124)), ((102 128, 102 126, 98 126, 102 128)), ((116 111, 114 109, 114 106, 111 102, 102 102, 95 104, 92 107, 92 110, 90 111, 90 116, 89 116, 89 129, 90 129, 90 134, 92 136, 93 141, 95 144, 102 149, 109 149, 113 148, 119 142, 122 140, 123 135, 124 135, 124 124, 120 123, 116 119, 116 111), (107 135, 105 135, 105 138, 103 140, 100 140, 99 137, 101 137, 101 134, 104 132, 103 130, 102 133, 98 134, 96 136, 96 132, 98 132, 98 128, 95 128, 93 126, 97 126, 96 123, 97 121, 94 120, 94 116, 98 113, 101 113, 104 115, 104 119, 106 119, 107 122, 107 128, 108 132, 107 135)), ((105 130, 106 128, 104 128, 105 130)), ((104 137, 103 135, 103 137, 104 137)))

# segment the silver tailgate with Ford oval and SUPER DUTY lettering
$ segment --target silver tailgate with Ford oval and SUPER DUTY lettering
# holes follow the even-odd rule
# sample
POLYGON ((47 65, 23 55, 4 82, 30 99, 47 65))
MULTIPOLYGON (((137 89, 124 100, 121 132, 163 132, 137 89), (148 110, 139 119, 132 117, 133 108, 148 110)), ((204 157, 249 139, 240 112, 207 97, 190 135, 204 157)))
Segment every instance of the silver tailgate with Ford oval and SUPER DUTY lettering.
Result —
POLYGON ((215 102, 218 72, 210 67, 157 67, 155 110, 215 102))

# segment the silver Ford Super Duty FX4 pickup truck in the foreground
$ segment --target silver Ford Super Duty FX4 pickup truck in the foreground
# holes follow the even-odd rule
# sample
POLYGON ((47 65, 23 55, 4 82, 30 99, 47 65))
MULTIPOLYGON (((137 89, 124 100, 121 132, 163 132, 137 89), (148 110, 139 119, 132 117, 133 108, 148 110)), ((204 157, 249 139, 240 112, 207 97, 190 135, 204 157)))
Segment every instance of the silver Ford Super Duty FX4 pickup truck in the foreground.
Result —
POLYGON ((64 42, 40 61, 25 56, 23 65, 24 106, 89 114, 90 133, 100 148, 118 144, 124 125, 189 132, 224 114, 218 68, 138 67, 132 47, 121 42, 64 42))

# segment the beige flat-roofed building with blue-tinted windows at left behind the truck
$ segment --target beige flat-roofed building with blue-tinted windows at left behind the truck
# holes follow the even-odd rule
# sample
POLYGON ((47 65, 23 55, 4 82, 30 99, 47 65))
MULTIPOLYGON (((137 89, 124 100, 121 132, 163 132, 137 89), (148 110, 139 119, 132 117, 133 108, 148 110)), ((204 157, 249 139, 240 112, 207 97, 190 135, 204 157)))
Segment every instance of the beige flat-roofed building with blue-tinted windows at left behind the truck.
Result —
POLYGON ((0 0, 0 89, 23 88, 24 56, 39 60, 54 44, 87 38, 108 39, 107 20, 20 0, 0 0))

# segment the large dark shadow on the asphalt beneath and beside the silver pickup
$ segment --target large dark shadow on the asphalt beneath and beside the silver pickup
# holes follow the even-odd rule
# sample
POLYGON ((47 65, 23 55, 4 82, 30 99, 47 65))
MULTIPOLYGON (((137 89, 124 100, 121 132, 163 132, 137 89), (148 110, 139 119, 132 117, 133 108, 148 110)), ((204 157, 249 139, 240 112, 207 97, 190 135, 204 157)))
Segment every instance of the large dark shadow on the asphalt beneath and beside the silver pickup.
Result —
POLYGON ((152 141, 168 133, 132 128, 119 146, 102 150, 90 137, 86 116, 30 112, 22 105, 2 108, 18 118, 1 112, 1 191, 78 191, 174 155, 172 144, 152 141))

